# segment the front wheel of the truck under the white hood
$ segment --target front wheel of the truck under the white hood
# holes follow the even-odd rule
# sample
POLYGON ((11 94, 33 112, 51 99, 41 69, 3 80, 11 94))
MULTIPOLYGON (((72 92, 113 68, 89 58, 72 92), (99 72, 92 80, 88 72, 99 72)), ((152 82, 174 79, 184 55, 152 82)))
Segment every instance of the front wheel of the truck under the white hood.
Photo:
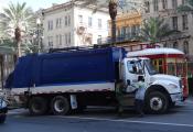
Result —
POLYGON ((153 91, 147 97, 146 105, 151 113, 164 113, 169 108, 169 99, 164 94, 153 91))

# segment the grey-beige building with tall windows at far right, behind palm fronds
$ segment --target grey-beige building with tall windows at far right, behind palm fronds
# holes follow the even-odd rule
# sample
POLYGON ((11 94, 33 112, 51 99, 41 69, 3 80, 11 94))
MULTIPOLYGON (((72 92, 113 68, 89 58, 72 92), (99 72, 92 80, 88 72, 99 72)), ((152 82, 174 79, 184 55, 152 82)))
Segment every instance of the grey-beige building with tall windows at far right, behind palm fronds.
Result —
POLYGON ((180 31, 167 37, 162 43, 167 47, 179 48, 193 61, 193 15, 187 12, 178 12, 176 8, 185 0, 143 0, 146 11, 143 19, 150 16, 164 18, 171 30, 180 31))

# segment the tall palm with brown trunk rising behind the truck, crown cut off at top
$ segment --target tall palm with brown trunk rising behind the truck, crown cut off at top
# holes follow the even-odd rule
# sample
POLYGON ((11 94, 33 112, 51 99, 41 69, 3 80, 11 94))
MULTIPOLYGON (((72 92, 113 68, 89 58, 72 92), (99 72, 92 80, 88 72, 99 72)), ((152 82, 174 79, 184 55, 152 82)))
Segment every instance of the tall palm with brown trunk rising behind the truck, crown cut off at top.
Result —
POLYGON ((82 7, 94 4, 94 12, 108 7, 109 15, 111 18, 112 45, 116 44, 116 16, 119 9, 121 11, 129 10, 139 12, 144 8, 141 0, 74 0, 74 2, 76 1, 82 1, 82 7))

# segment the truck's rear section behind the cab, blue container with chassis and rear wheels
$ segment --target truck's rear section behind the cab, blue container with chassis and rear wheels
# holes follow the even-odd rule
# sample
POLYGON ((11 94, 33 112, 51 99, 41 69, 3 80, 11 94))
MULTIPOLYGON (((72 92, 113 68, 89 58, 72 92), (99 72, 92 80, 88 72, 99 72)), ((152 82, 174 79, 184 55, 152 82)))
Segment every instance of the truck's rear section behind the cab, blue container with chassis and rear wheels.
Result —
POLYGON ((111 105, 124 54, 120 47, 95 47, 26 55, 19 58, 6 88, 32 114, 111 105))

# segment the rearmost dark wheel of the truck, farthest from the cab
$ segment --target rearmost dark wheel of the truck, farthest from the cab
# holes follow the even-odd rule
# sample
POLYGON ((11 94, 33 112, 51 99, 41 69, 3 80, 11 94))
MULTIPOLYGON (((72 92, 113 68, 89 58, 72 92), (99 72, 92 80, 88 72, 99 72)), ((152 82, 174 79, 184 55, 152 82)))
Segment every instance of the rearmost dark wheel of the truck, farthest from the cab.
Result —
POLYGON ((32 116, 42 116, 47 112, 47 100, 43 97, 33 97, 29 103, 29 110, 32 116))

